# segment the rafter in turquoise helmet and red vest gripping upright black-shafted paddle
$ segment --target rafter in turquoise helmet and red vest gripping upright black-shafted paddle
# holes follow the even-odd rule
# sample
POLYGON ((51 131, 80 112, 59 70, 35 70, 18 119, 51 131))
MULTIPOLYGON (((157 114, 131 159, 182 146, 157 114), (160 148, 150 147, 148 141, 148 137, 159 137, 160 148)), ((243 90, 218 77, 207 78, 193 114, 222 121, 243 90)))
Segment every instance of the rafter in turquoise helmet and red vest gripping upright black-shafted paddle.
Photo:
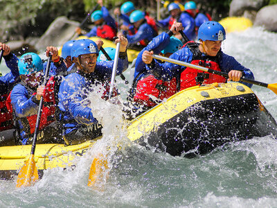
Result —
MULTIPOLYGON (((52 61, 57 60, 57 49, 53 46, 47 47, 46 56, 52 53, 52 61)), ((55 125, 55 96, 54 77, 48 80, 46 86, 40 85, 43 79, 44 65, 42 59, 36 53, 25 53, 18 62, 21 82, 13 87, 10 93, 10 104, 15 113, 19 144, 31 144, 39 100, 43 96, 44 105, 39 123, 38 144, 62 142, 60 130, 55 125)))

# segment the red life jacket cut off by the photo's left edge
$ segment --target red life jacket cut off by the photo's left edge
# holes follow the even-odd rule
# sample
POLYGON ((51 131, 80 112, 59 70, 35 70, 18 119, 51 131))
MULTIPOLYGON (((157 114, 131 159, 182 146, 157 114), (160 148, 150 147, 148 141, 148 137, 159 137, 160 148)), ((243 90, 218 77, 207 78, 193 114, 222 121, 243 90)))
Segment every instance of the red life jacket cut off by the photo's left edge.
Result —
POLYGON ((7 98, 8 94, 3 94, 0 96, 0 131, 9 130, 13 128, 12 112, 10 112, 7 108, 7 98))

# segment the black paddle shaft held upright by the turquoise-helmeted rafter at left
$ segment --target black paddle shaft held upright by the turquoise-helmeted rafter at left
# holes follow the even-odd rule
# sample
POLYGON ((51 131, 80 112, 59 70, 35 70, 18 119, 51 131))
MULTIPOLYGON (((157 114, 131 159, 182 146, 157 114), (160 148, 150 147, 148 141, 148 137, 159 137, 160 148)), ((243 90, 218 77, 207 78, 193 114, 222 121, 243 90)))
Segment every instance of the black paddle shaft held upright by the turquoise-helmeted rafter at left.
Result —
MULTIPOLYGON (((46 71, 45 71, 45 74, 44 74, 44 82, 43 82, 44 86, 46 85, 48 73, 49 73, 49 70, 50 70, 51 58, 52 58, 52 55, 49 53, 48 60, 47 60, 47 67, 46 67, 46 71)), ((40 101, 39 101, 39 110, 37 111, 37 121, 35 123, 35 132, 34 132, 34 135, 33 135, 33 144, 32 144, 32 149, 30 150, 31 155, 35 154, 35 146, 36 146, 36 143, 37 143, 37 133, 39 131, 39 123, 40 123, 40 118, 41 118, 41 115, 42 115, 42 105, 43 105, 43 96, 40 98, 40 101)))

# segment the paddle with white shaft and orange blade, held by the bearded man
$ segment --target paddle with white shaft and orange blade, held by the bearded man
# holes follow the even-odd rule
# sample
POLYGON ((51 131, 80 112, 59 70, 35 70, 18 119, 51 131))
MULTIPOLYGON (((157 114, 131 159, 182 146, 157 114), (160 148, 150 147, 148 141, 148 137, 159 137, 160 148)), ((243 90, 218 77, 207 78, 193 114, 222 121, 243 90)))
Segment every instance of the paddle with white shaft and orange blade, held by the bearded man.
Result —
MULTIPOLYGON (((109 88, 109 99, 111 98, 113 89, 114 89, 114 79, 116 77, 116 69, 118 65, 118 57, 119 57, 119 49, 120 49, 120 42, 116 44, 116 55, 114 57, 114 66, 111 73, 111 86, 109 88)), ((105 156, 100 154, 98 157, 95 157, 93 159, 93 162, 91 163, 91 168, 89 171, 89 181, 87 183, 88 187, 96 187, 95 185, 98 182, 98 178, 102 178, 103 170, 107 169, 107 159, 105 159, 105 156)), ((96 187, 99 189, 99 187, 96 187)), ((101 187, 100 187, 101 188, 101 187)))

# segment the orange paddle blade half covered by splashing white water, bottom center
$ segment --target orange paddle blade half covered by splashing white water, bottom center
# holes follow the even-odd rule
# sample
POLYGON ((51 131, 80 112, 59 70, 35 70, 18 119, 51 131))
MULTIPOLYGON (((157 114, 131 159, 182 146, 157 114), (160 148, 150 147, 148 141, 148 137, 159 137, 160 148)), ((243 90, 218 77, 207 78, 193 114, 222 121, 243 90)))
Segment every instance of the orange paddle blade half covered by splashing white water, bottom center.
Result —
POLYGON ((94 187, 102 191, 101 182, 104 180, 107 168, 108 163, 107 160, 104 159, 103 155, 100 155, 100 157, 95 157, 91 163, 91 170, 89 171, 89 182, 87 183, 87 186, 94 187))

